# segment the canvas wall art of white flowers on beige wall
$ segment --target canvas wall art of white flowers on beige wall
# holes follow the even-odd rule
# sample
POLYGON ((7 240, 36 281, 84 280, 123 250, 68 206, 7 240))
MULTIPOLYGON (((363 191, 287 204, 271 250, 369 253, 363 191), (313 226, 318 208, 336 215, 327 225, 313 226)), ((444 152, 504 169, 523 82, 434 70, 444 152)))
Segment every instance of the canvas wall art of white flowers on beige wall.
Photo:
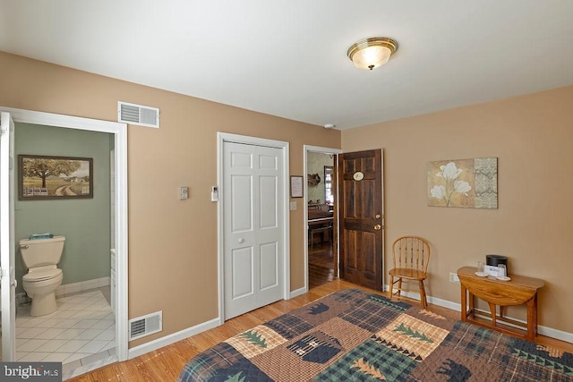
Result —
POLYGON ((429 162, 428 206, 498 208, 498 158, 429 162))

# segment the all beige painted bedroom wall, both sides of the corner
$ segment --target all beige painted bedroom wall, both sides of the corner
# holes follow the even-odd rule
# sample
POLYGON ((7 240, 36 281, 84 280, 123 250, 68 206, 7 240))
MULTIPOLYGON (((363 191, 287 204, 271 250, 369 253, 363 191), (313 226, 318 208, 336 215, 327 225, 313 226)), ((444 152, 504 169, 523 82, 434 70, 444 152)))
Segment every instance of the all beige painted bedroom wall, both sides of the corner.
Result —
MULTIPOLYGON (((386 252, 398 235, 427 237, 429 295, 459 301, 449 272, 504 254, 510 272, 546 281, 541 325, 573 333, 573 87, 341 134, 2 52, 0 70, 0 106, 108 121, 118 100, 161 109, 160 129, 128 128, 129 317, 164 312, 164 331, 132 347, 217 316, 217 132, 289 141, 291 174, 303 174, 304 144, 384 149, 386 252), (427 207, 426 163, 468 157, 499 157, 500 208, 427 207)), ((303 214, 291 211, 291 290, 304 286, 303 214)))

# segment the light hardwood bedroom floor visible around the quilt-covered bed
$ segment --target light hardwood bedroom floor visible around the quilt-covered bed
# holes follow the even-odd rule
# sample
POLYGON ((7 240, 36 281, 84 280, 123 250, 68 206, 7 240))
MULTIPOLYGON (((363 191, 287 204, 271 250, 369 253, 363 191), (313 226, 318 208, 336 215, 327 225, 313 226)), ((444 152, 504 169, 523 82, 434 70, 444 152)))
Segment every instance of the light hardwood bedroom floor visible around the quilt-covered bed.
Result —
MULTIPOLYGON (((289 310, 301 307, 304 304, 320 299, 330 293, 334 293, 344 288, 360 288, 372 293, 380 293, 368 288, 362 288, 355 284, 350 284, 340 279, 334 279, 326 284, 321 284, 312 288, 308 293, 304 293, 289 301, 278 301, 242 316, 229 319, 220 327, 210 329, 199 335, 193 335, 183 341, 168 345, 154 352, 141 355, 133 360, 118 362, 107 365, 102 369, 91 371, 80 377, 73 378, 73 381, 174 381, 179 375, 184 364, 194 355, 205 349, 224 341, 230 336, 237 335, 245 330, 255 327, 269 319, 276 318, 289 310)), ((449 310, 439 306, 429 304, 432 310, 442 316, 459 318, 459 312, 449 310)), ((546 346, 552 346, 560 351, 573 352, 573 344, 565 343, 552 338, 537 336, 535 342, 546 346)))

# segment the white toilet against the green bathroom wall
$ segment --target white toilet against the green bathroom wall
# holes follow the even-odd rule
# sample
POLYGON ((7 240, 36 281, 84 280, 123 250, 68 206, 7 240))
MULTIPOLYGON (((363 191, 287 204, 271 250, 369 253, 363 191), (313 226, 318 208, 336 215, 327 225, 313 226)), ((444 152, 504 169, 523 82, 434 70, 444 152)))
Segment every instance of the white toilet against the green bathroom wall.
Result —
POLYGON ((30 316, 45 316, 56 311, 56 289, 64 279, 57 263, 62 257, 64 242, 64 236, 20 241, 21 259, 28 268, 21 286, 32 299, 30 316))

